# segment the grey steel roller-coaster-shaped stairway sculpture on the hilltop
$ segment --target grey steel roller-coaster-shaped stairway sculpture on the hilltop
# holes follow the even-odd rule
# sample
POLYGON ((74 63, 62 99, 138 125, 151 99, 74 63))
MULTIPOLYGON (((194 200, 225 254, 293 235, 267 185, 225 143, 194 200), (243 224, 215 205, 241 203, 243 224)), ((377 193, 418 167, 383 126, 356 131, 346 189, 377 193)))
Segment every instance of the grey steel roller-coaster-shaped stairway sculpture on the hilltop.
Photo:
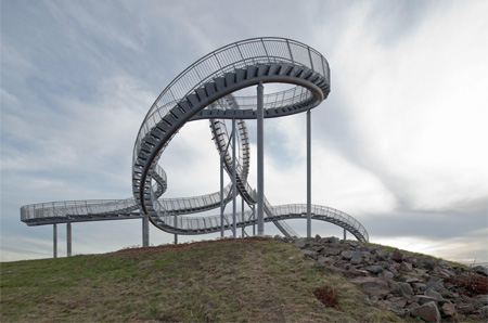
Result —
POLYGON ((142 218, 145 219, 143 245, 147 245, 149 221, 168 233, 205 234, 220 231, 222 236, 224 230, 232 230, 235 236, 236 228, 258 224, 259 229, 259 221, 265 221, 273 222, 284 235, 290 236, 296 233, 284 220, 306 219, 309 215, 311 219, 344 228, 359 241, 368 241, 368 232, 362 224, 337 209, 310 203, 272 206, 264 195, 260 202, 259 169, 258 193, 247 183, 249 140, 244 120, 257 119, 259 128, 260 114, 262 120, 309 113, 326 99, 329 92, 328 61, 304 43, 285 38, 253 38, 222 47, 184 69, 151 106, 133 147, 133 197, 26 205, 21 208, 21 220, 27 225, 42 225, 142 218), (262 85, 271 82, 287 83, 293 88, 262 95, 262 85), (252 86, 257 86, 258 95, 233 95, 252 86), (221 168, 230 176, 231 183, 223 188, 221 175, 219 192, 185 198, 163 198, 167 178, 158 159, 184 124, 200 119, 209 119, 221 168), (228 133, 224 119, 232 120, 231 134, 228 133), (236 148, 239 156, 235 154, 236 148), (236 194, 249 205, 251 210, 235 211, 236 194), (224 206, 231 201, 234 201, 233 212, 223 214, 224 206), (261 209, 261 219, 256 217, 255 206, 261 209), (217 208, 220 208, 220 215, 217 216, 188 216, 217 208))

